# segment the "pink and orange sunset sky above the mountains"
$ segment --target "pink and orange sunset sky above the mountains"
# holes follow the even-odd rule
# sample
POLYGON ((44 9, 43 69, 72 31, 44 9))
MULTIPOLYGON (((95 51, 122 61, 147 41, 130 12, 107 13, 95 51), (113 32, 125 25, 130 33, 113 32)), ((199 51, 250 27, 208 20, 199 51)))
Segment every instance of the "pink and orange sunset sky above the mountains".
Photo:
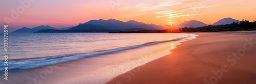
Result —
POLYGON ((1 0, 0 25, 8 24, 14 31, 39 25, 62 28, 111 18, 157 25, 179 25, 188 20, 213 24, 227 17, 253 21, 255 4, 255 0, 1 0))

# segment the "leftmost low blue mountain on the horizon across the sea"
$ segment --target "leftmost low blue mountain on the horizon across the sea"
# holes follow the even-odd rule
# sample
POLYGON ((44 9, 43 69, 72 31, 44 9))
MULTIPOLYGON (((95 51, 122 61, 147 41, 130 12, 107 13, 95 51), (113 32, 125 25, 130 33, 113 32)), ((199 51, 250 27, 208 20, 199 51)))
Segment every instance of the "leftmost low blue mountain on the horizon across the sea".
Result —
POLYGON ((23 27, 23 28, 20 28, 20 29, 17 29, 15 31, 13 31, 12 33, 33 33, 33 32, 36 32, 36 31, 39 31, 39 30, 42 30, 42 29, 56 29, 56 28, 51 27, 49 25, 40 25, 40 26, 34 27, 32 29, 27 28, 27 27, 23 27))

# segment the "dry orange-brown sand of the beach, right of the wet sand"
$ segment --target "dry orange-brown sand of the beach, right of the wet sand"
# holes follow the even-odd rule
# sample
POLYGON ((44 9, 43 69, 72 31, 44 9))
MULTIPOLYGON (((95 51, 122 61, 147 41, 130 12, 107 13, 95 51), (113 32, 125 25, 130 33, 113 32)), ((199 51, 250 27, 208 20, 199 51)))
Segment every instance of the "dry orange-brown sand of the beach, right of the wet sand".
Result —
POLYGON ((256 83, 255 31, 193 34, 198 38, 108 83, 256 83))

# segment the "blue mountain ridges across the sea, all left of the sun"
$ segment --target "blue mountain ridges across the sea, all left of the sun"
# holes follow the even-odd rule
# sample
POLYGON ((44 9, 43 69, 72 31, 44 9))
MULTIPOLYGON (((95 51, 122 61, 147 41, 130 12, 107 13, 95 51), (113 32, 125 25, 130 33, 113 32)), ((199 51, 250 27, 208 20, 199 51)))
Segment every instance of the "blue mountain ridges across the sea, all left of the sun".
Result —
MULTIPOLYGON (((88 21, 84 24, 79 24, 77 26, 71 26, 71 27, 65 27, 65 28, 60 28, 56 29, 53 27, 50 27, 48 25, 46 26, 37 26, 32 29, 30 28, 22 28, 18 29, 15 32, 36 32, 39 30, 42 30, 41 32, 48 32, 46 29, 54 29, 54 30, 67 30, 67 31, 58 31, 58 32, 106 32, 106 31, 126 31, 127 30, 162 30, 162 29, 167 29, 169 25, 165 26, 160 26, 160 25, 155 25, 155 24, 145 24, 142 22, 137 22, 135 20, 130 20, 127 22, 122 22, 120 20, 115 20, 115 19, 109 19, 109 20, 91 20, 88 21), (74 31, 75 30, 75 31, 74 31)), ((52 32, 49 30, 49 32, 52 32)))

